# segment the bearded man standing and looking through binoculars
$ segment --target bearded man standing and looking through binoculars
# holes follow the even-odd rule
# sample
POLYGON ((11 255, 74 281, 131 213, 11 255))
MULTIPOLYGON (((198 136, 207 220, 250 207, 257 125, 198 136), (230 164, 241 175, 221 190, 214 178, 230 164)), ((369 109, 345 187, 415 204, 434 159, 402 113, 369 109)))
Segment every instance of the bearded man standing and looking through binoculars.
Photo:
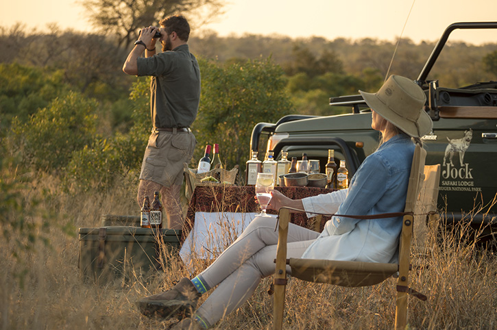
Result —
POLYGON ((160 191, 167 227, 182 229, 180 188, 183 163, 195 149, 190 125, 197 116, 200 71, 188 47, 190 25, 181 15, 169 16, 157 27, 145 27, 123 65, 128 75, 151 76, 150 107, 153 128, 141 166, 138 204, 160 191), (160 34, 160 38, 159 35, 160 34), (162 53, 156 54, 160 40, 162 53), (145 57, 141 57, 145 51, 145 57))

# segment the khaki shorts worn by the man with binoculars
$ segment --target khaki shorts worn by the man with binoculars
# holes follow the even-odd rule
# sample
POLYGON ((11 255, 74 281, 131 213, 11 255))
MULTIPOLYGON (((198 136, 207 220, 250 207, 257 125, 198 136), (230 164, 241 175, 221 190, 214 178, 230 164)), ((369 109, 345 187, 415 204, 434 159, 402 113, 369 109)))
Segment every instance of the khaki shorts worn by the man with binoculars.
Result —
POLYGON ((140 179, 165 187, 181 185, 183 163, 190 162, 196 144, 191 131, 152 131, 143 156, 140 179))

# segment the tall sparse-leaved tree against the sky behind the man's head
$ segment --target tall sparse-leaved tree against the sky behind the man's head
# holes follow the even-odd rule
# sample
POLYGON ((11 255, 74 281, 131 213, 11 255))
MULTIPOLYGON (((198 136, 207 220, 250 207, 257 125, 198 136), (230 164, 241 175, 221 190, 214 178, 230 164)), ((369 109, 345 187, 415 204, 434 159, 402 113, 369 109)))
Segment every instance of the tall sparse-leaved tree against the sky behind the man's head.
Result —
POLYGON ((116 35, 119 47, 128 49, 138 29, 157 24, 171 14, 213 18, 220 13, 221 0, 88 0, 80 2, 90 22, 107 35, 116 35))

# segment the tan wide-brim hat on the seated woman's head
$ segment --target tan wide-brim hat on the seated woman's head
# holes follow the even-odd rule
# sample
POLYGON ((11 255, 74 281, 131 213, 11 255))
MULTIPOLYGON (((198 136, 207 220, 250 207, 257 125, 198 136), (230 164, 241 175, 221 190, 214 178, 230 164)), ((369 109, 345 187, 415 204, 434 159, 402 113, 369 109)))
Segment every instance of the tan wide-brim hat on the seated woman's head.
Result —
POLYGON ((409 136, 420 138, 433 129, 433 121, 424 111, 426 95, 411 79, 391 75, 378 92, 359 92, 372 110, 409 136))

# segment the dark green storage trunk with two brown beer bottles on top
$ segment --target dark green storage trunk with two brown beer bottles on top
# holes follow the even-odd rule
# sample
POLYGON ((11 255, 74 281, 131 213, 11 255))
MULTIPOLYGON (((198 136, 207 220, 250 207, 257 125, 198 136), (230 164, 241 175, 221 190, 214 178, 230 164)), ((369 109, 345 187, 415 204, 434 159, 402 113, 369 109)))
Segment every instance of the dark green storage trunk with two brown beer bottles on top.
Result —
POLYGON ((141 227, 80 228, 80 275, 85 281, 122 281, 159 270, 159 257, 169 259, 180 249, 181 231, 141 227))

